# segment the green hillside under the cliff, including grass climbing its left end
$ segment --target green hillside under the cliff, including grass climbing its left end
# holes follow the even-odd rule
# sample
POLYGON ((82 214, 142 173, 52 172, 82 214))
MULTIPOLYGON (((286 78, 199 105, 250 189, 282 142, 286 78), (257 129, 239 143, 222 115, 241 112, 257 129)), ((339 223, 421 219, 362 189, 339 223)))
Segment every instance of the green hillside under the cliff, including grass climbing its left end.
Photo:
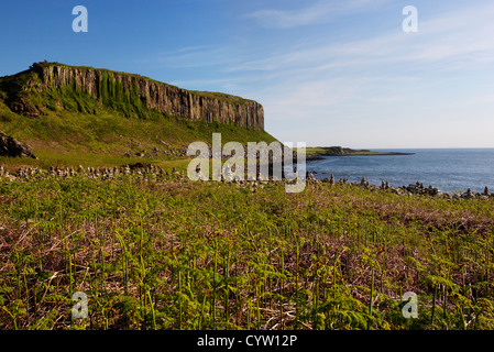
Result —
POLYGON ((30 144, 40 160, 0 157, 0 163, 102 166, 139 160, 158 164, 183 157, 191 142, 210 144, 215 132, 221 133, 223 143, 275 141, 265 131, 160 113, 149 109, 138 92, 123 91, 111 79, 100 85, 101 99, 77 85, 42 91, 26 89, 36 79, 32 70, 0 78, 0 130, 30 144), (40 113, 15 113, 15 103, 34 107, 40 113))

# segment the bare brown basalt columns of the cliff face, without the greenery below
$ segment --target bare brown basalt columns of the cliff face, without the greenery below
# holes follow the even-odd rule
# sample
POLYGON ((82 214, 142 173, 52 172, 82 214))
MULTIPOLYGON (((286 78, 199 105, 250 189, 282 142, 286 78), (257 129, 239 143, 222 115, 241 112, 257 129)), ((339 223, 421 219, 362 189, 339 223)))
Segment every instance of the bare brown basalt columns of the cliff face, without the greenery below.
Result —
MULTIPOLYGON (((110 82, 123 92, 139 95, 143 105, 160 112, 207 122, 235 123, 245 128, 264 129, 263 107, 253 100, 226 94, 197 92, 155 81, 139 75, 72 67, 62 64, 34 64, 33 69, 41 78, 42 86, 61 88, 77 84, 95 98, 101 97, 101 85, 110 82)), ((43 89, 43 87, 40 87, 43 89)))

